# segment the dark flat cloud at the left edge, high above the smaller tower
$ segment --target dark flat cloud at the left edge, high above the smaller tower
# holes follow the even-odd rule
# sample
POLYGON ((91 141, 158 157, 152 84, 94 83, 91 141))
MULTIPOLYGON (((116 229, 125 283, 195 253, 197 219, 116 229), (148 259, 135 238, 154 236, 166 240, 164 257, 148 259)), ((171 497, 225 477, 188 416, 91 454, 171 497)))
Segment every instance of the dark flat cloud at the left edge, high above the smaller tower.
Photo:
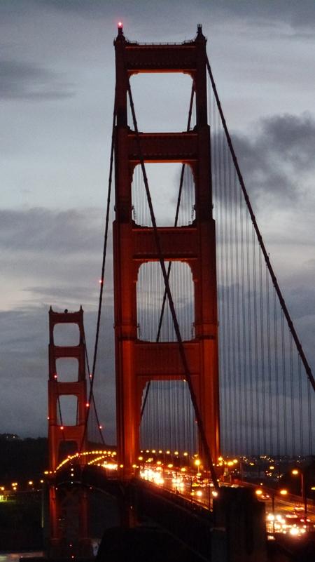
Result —
POLYGON ((62 100, 72 98, 73 84, 62 74, 17 60, 0 60, 0 98, 3 100, 62 100))

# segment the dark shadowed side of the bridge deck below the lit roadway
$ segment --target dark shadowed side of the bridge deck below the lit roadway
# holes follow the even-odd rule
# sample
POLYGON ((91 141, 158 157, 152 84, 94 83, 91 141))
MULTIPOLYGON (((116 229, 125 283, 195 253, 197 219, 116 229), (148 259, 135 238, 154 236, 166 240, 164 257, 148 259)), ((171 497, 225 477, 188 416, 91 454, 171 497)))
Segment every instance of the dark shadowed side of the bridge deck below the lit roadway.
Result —
POLYGON ((213 515, 202 504, 190 501, 183 495, 176 495, 167 488, 155 486, 141 478, 123 482, 118 479, 117 467, 108 463, 110 469, 104 470, 91 462, 80 465, 69 463, 57 471, 55 485, 57 488, 78 485, 99 490, 116 497, 120 516, 141 521, 154 521, 160 528, 185 544, 190 551, 192 562, 209 560, 211 552, 211 528, 213 515))

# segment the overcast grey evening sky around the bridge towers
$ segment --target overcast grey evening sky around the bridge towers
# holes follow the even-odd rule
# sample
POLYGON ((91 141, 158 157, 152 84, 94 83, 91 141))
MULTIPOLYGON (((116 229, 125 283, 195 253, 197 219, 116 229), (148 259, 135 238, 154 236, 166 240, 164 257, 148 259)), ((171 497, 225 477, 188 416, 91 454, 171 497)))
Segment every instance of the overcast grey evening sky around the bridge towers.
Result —
MULTIPOLYGON (((248 192, 315 366, 314 1, 1 0, 0 433, 46 433, 50 305, 83 306, 92 353, 119 20, 137 41, 193 39, 202 23, 248 192)), ((165 108, 185 128, 186 78, 170 105, 165 81, 134 78, 140 128, 169 124, 165 108)), ((98 383, 108 441, 111 286, 109 270, 98 383)))

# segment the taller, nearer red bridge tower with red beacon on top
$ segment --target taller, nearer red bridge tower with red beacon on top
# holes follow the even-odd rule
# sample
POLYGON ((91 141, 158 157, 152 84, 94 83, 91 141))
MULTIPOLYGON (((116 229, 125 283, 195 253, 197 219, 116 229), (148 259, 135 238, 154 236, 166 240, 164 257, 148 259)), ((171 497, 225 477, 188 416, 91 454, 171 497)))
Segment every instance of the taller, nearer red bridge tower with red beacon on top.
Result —
MULTIPOLYGON (((186 262, 195 287, 195 338, 183 342, 204 431, 215 461, 219 451, 216 243, 212 218, 210 131, 207 122, 207 39, 198 26, 183 44, 138 44, 118 27, 116 49, 116 218, 113 223, 118 455, 125 479, 139 452, 141 396, 150 380, 183 379, 177 342, 137 337, 137 276, 158 261, 153 228, 132 220, 132 175, 144 162, 189 165, 195 183, 195 220, 187 227, 159 227, 164 260, 186 262), (186 133, 136 133, 127 123, 128 80, 141 72, 184 72, 195 89, 196 126, 186 133), (141 151, 139 150, 141 147, 141 151), (172 364, 172 373, 167 365, 172 364)), ((172 92, 169 93, 172 95, 172 92)), ((154 108, 153 108, 154 111, 154 108)))

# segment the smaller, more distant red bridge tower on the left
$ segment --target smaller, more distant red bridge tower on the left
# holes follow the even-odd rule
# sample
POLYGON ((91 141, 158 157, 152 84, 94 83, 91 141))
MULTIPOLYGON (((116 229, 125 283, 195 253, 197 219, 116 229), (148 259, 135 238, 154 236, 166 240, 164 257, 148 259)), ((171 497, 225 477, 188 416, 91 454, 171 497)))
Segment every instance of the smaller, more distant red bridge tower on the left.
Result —
POLYGON ((85 556, 90 554, 86 490, 81 486, 59 488, 55 476, 59 462, 67 454, 86 448, 87 391, 82 307, 78 312, 55 312, 50 307, 49 335, 48 448, 52 475, 49 484, 49 555, 52 558, 72 554, 85 556), (79 331, 78 345, 55 345, 54 328, 57 324, 76 324, 79 331), (64 358, 77 360, 77 380, 58 380, 57 359, 64 358), (59 401, 62 396, 76 396, 77 415, 73 425, 62 423, 59 401))

